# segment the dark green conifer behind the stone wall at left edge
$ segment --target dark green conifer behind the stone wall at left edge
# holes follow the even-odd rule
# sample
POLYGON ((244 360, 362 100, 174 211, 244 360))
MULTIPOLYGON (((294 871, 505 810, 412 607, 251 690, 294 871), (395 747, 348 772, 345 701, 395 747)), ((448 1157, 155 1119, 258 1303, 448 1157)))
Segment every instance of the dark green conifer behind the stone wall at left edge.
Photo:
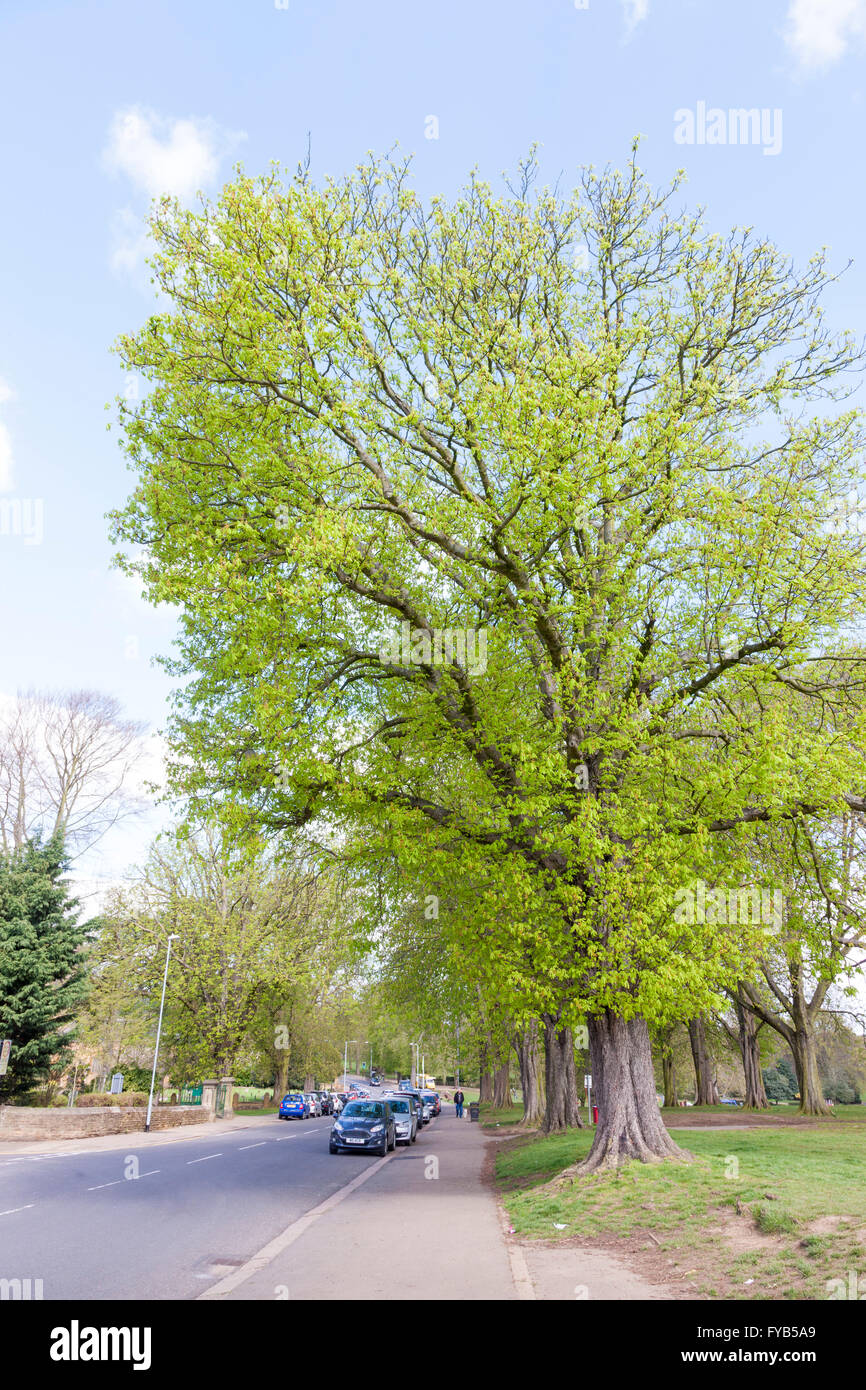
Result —
POLYGON ((85 927, 65 870, 58 835, 0 853, 0 1038, 13 1044, 0 1081, 7 1097, 31 1091, 65 1061, 86 992, 85 927))

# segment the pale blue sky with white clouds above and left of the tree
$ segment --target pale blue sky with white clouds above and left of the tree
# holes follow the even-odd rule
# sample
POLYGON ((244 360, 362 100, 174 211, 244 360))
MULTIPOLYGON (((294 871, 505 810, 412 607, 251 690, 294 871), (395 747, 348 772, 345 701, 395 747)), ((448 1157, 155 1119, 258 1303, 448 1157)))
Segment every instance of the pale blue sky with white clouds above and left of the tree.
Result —
MULTIPOLYGON (((86 685, 165 717, 172 619, 110 571, 104 521, 131 480, 104 406, 125 389, 111 343, 153 304, 152 195, 293 167, 307 132, 314 174, 396 142, 423 193, 473 167, 495 182, 535 142, 570 183, 641 133, 651 177, 685 168, 719 229, 842 265, 863 239, 865 53, 866 0, 4 0, 0 695, 86 685), (701 103, 766 111, 780 147, 678 143, 701 103)), ((863 335, 862 264, 828 316, 863 335)))

